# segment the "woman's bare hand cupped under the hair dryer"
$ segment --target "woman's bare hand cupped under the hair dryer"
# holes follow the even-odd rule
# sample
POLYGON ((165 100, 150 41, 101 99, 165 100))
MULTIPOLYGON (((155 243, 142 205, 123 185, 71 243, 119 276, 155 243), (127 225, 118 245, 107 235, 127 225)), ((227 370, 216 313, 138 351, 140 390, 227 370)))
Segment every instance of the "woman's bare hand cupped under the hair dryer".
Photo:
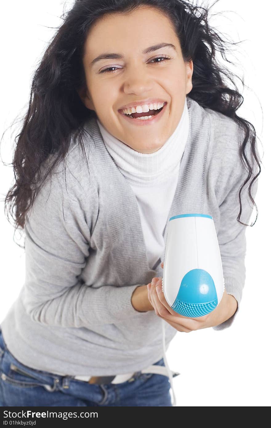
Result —
MULTIPOLYGON (((161 267, 164 268, 163 262, 161 267)), ((224 291, 219 305, 212 312, 203 317, 189 318, 178 314, 169 306, 162 291, 162 278, 153 278, 147 288, 149 302, 152 304, 156 315, 163 318, 176 330, 185 333, 221 324, 229 319, 237 309, 235 297, 224 291)))

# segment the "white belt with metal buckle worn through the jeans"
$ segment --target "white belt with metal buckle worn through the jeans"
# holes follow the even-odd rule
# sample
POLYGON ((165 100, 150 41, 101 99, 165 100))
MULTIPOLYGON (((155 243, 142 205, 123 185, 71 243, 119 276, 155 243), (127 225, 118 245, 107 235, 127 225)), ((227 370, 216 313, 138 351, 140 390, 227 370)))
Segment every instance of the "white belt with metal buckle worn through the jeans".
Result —
MULTIPOLYGON (((172 376, 178 376, 178 372, 172 372, 172 376)), ((126 380, 134 380, 135 373, 155 373, 157 375, 168 376, 167 368, 165 366, 149 366, 147 369, 140 370, 139 372, 125 373, 124 375, 116 375, 116 376, 73 376, 73 379, 83 380, 88 383, 122 383, 126 380)))

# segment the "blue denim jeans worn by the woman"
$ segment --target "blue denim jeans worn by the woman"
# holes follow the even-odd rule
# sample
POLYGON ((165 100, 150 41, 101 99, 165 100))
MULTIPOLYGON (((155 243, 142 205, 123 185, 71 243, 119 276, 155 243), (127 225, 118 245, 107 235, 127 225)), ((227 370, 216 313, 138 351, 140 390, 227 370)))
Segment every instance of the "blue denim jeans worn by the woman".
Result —
MULTIPOLYGON (((164 366, 161 358, 155 365, 164 366)), ((0 406, 172 406, 167 376, 136 372, 122 383, 90 384, 24 366, 0 330, 0 406)))

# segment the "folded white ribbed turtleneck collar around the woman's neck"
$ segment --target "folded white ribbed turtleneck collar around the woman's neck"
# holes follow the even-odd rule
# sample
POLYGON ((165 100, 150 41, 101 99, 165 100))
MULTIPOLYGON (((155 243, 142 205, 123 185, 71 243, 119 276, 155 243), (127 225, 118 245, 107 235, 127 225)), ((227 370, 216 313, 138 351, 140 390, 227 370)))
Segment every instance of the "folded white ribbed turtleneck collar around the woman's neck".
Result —
POLYGON ((97 124, 104 144, 122 174, 134 184, 149 185, 164 181, 179 170, 189 131, 187 99, 179 123, 164 145, 154 153, 140 153, 110 134, 101 122, 97 124))

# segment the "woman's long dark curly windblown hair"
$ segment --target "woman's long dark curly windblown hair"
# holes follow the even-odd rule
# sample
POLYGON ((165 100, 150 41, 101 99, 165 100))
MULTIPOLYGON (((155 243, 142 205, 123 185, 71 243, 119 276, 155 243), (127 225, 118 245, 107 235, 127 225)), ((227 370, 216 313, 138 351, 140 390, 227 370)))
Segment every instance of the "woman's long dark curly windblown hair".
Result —
MULTIPOLYGON (((257 158, 254 126, 236 114, 244 98, 238 92, 235 80, 241 80, 243 87, 244 82, 217 62, 219 52, 223 59, 231 62, 226 56, 226 45, 235 45, 225 41, 209 26, 208 14, 217 1, 207 8, 199 6, 197 0, 77 0, 67 13, 63 13, 63 24, 57 28, 33 75, 28 111, 23 118, 21 132, 15 137, 16 146, 11 163, 15 184, 4 199, 5 213, 9 211, 15 221, 15 231, 18 227, 24 229, 27 211, 33 205, 42 183, 68 152, 71 136, 79 137, 78 144, 83 146, 83 123, 87 118, 97 117, 94 110, 85 107, 77 92, 86 87, 83 50, 90 27, 106 13, 129 13, 141 5, 153 6, 170 19, 184 61, 192 59, 193 89, 189 97, 202 107, 234 119, 244 136, 240 156, 249 172, 239 191, 240 212, 237 220, 249 226, 239 220, 242 212, 241 190, 253 175, 253 165, 250 165, 245 153, 247 145, 259 166, 258 174, 253 176, 249 186, 249 196, 255 206, 250 189, 261 172, 261 161, 257 158), (54 154, 55 161, 48 167, 44 180, 38 186, 40 167, 51 154, 54 154)), ((257 206, 256 211, 257 220, 257 206)))

